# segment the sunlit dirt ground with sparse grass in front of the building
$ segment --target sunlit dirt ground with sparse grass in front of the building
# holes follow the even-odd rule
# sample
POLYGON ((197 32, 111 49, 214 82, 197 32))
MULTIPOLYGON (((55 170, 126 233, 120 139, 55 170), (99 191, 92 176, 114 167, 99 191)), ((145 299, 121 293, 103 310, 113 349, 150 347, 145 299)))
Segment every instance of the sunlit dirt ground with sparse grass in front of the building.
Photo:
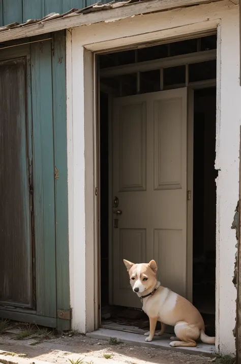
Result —
POLYGON ((91 339, 80 334, 53 336, 50 339, 41 340, 16 340, 14 333, 7 333, 0 335, 0 350, 6 351, 4 354, 6 358, 7 352, 12 353, 11 356, 15 362, 19 357, 18 354, 24 354, 20 356, 26 357, 29 363, 42 360, 58 364, 72 361, 72 364, 76 364, 77 359, 80 359, 82 364, 113 364, 113 362, 119 364, 207 364, 213 361, 205 356, 183 354, 176 350, 138 347, 124 343, 111 345, 107 341, 91 339))

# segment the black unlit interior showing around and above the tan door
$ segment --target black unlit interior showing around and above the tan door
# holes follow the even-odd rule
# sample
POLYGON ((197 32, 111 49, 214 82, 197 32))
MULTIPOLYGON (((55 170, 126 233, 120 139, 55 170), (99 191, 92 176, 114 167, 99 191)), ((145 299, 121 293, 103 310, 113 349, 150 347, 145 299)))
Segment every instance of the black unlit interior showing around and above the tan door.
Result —
MULTIPOLYGON (((100 56, 101 68, 124 65, 195 51, 196 40, 171 43, 100 56), (187 44, 185 43, 187 42, 187 44), (180 44, 179 44, 180 43, 180 44), (185 44, 188 49, 184 47, 185 44), (178 45, 179 44, 179 45, 178 45), (179 46, 179 48, 178 48, 179 46), (194 47, 193 50, 191 47, 194 47), (167 48, 168 52, 164 52, 167 48), (164 52, 163 54, 161 52, 164 52), (183 52, 183 53, 182 53, 183 52), (135 54, 137 57, 134 57, 135 54)), ((214 49, 216 36, 199 41, 199 50, 214 49), (201 45, 200 45, 201 44, 201 45)), ((185 66, 163 70, 164 89, 185 87, 185 66)), ((101 308, 102 326, 138 332, 148 330, 148 318, 141 310, 110 305, 109 283, 109 150, 108 117, 111 97, 160 91, 160 70, 101 79, 100 92, 100 237, 101 237, 101 308)), ((216 60, 189 65, 189 81, 216 79, 216 60)), ((202 86, 203 87, 203 86, 202 86)), ((194 187, 193 187, 193 303, 203 316, 206 333, 215 333, 216 269, 216 87, 194 91, 194 187)))

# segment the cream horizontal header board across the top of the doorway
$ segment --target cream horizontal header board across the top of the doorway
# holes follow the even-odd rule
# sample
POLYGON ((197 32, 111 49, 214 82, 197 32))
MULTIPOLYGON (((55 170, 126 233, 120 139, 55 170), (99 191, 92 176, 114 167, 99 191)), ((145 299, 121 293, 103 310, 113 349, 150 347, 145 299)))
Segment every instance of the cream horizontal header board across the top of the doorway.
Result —
MULTIPOLYGON (((238 13, 228 0, 75 28, 86 49, 96 52, 217 30, 222 17, 238 13)), ((197 35, 198 37, 198 35, 197 35)))

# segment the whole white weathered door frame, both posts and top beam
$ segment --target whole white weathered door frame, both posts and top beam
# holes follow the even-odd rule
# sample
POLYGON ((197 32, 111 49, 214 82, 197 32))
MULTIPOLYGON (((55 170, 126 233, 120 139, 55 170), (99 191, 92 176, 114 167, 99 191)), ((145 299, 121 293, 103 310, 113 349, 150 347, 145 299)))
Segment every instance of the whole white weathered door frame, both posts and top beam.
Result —
POLYGON ((229 220, 230 214, 233 217, 238 200, 238 166, 234 169, 235 161, 230 169, 231 162, 227 159, 224 140, 227 135, 231 139, 234 138, 235 142, 230 147, 235 155, 236 149, 238 151, 239 148, 239 141, 238 144, 236 141, 237 132, 236 130, 232 132, 231 128, 227 126, 226 120, 232 120, 235 127, 236 124, 239 126, 241 92, 238 88, 238 7, 232 2, 224 0, 143 16, 96 23, 67 32, 67 139, 72 325, 81 332, 92 331, 98 325, 96 318, 99 308, 96 295, 98 268, 95 267, 98 261, 98 196, 95 194, 96 187, 98 187, 95 152, 98 140, 96 115, 93 112, 96 102, 95 67, 92 53, 129 47, 141 42, 178 39, 178 37, 190 36, 190 34, 198 36, 199 32, 203 34, 203 32, 218 29, 216 169, 224 167, 224 171, 221 168, 222 173, 219 172, 221 179, 219 178, 217 182, 216 350, 221 353, 233 353, 235 342, 232 329, 235 325, 236 291, 231 283, 233 275, 231 264, 232 261, 234 262, 235 245, 230 248, 227 240, 232 241, 233 238, 229 220), (143 22, 143 16, 145 22, 143 22), (232 42, 230 42, 230 37, 232 42), (234 57, 232 67, 229 66, 230 57, 228 55, 230 54, 234 57), (221 89, 224 96, 221 96, 221 89), (230 117, 227 111, 230 109, 229 105, 232 101, 234 107, 230 117), (220 133, 221 122, 224 133, 220 133), (232 178, 233 174, 235 178, 232 178), (229 187, 226 187, 227 182, 229 187), (230 189, 230 199, 224 210, 225 193, 227 194, 230 189), (237 189, 236 192, 235 189, 237 189), (227 262, 230 262, 228 267, 225 266, 227 262), (222 284, 220 284, 220 280, 222 280, 222 284), (227 296, 229 297, 228 302, 227 296))

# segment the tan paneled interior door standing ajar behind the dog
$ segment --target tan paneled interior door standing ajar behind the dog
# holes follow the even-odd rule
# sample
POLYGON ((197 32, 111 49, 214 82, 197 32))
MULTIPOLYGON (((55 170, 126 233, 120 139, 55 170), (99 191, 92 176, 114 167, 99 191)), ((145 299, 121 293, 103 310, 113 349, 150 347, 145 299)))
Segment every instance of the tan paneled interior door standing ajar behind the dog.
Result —
POLYGON ((187 296, 187 104, 187 88, 113 101, 115 305, 141 306, 123 258, 155 259, 161 283, 187 296))

